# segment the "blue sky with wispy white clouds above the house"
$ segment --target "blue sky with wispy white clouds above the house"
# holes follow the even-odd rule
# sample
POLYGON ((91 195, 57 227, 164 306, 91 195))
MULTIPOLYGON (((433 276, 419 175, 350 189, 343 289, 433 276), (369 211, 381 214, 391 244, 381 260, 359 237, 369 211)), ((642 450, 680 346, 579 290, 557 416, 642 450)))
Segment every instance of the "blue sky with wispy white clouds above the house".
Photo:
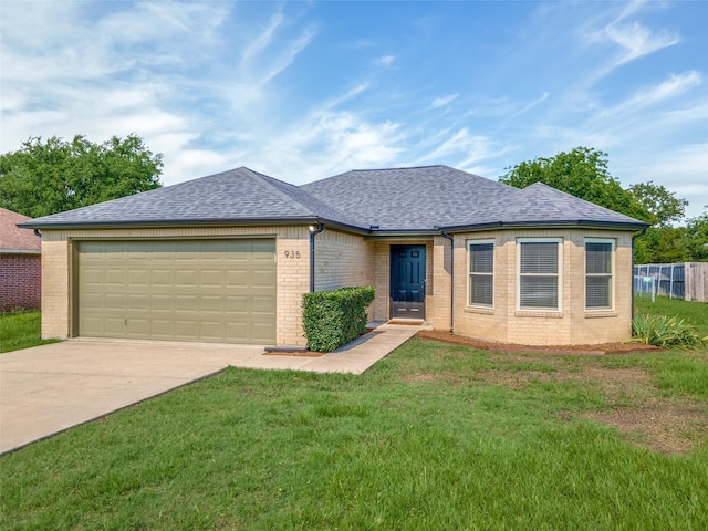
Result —
POLYGON ((0 3, 0 150, 136 133, 166 185, 576 146, 708 205, 708 2, 0 3))

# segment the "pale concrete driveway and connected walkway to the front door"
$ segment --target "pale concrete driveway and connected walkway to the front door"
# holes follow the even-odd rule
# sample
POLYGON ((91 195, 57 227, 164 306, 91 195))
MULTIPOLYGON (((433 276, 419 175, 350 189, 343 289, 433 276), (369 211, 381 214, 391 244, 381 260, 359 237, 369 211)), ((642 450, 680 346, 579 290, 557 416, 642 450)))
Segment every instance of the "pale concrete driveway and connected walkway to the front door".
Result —
POLYGON ((266 355, 244 345, 93 340, 0 354, 0 454, 228 366, 362 374, 418 330, 384 324, 320 357, 266 355))

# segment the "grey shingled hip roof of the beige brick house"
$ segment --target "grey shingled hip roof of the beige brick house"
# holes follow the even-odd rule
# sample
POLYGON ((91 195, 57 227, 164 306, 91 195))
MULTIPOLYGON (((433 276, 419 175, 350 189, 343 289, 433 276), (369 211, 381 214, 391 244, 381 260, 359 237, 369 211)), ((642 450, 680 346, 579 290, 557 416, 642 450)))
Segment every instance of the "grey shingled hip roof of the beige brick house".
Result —
POLYGON ((282 222, 325 222, 373 233, 523 225, 647 227, 545 185, 521 190, 448 166, 353 170, 303 186, 241 167, 24 226, 282 222))

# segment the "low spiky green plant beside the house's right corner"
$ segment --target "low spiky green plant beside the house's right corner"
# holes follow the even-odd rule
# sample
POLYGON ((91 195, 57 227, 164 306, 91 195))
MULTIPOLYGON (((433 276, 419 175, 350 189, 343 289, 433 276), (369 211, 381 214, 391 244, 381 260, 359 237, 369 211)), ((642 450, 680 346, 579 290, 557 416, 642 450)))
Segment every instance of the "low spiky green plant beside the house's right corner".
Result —
POLYGON ((708 344, 696 327, 668 315, 637 314, 632 322, 635 341, 664 347, 699 348, 708 344))

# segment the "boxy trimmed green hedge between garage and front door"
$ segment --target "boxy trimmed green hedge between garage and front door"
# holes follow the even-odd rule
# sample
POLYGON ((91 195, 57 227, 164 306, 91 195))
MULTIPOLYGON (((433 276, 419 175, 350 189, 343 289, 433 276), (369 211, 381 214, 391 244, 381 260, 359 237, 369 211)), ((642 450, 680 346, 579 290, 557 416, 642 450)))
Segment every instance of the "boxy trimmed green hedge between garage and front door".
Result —
POLYGON ((332 352, 366 333, 366 309, 375 290, 341 288, 302 295, 302 327, 308 346, 315 352, 332 352))

